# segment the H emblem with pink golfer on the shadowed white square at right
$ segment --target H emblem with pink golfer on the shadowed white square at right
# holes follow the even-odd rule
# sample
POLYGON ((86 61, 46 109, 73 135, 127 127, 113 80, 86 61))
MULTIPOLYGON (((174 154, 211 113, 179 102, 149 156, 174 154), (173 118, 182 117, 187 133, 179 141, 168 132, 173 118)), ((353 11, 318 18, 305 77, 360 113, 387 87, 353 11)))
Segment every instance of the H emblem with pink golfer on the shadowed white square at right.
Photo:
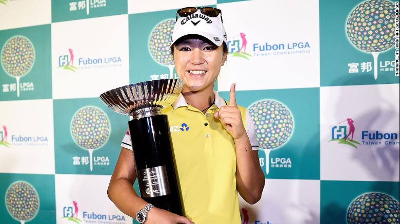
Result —
POLYGON ((341 125, 341 126, 333 126, 332 127, 332 140, 331 141, 337 141, 339 144, 346 144, 350 145, 354 148, 357 148, 355 144, 361 145, 359 142, 353 140, 354 137, 354 121, 351 118, 348 118, 347 120, 339 122, 339 124, 342 124, 347 121, 348 127, 346 125, 341 125), (349 132, 347 132, 349 130, 349 132), (350 137, 351 136, 351 137, 350 137), (349 138, 350 137, 350 138, 349 138))

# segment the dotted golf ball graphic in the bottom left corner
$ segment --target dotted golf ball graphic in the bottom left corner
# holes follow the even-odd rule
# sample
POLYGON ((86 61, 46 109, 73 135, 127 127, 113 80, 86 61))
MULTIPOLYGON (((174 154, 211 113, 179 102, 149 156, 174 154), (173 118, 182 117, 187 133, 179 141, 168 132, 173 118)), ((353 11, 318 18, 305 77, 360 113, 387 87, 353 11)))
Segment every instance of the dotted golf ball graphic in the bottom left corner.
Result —
POLYGON ((36 216, 39 210, 39 196, 32 185, 18 181, 7 189, 6 207, 14 219, 25 223, 36 216))

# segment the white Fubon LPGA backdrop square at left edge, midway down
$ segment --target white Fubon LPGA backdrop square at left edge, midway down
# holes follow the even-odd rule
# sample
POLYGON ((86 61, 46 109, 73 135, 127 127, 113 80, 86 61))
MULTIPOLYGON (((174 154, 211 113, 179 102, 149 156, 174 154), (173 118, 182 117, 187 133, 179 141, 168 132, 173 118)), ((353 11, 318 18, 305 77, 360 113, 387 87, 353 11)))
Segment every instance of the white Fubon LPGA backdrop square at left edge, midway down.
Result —
POLYGON ((3 101, 0 108, 0 173, 54 174, 53 100, 3 101))

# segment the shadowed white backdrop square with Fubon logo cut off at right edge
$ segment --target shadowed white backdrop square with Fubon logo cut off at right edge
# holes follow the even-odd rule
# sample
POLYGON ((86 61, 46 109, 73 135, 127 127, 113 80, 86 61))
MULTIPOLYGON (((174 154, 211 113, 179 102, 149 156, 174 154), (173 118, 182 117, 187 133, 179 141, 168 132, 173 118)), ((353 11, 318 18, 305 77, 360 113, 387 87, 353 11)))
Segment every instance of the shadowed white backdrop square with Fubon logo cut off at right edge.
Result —
POLYGON ((398 84, 321 87, 321 180, 399 181, 398 93, 398 84), (354 121, 359 144, 351 135, 346 142, 330 141, 350 133, 347 119, 354 121), (376 131, 397 139, 378 139, 376 131), (363 139, 363 132, 375 139, 363 139))

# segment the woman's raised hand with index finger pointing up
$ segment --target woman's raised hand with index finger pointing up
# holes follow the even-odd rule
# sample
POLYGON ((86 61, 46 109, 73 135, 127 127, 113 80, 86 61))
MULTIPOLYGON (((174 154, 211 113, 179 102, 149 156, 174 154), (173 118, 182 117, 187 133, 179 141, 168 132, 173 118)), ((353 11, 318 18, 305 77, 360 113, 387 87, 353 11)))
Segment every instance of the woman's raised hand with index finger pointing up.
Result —
POLYGON ((236 105, 235 85, 235 83, 231 85, 229 106, 221 106, 219 111, 215 112, 214 117, 221 121, 234 140, 239 140, 246 138, 247 133, 243 125, 241 110, 236 105))

